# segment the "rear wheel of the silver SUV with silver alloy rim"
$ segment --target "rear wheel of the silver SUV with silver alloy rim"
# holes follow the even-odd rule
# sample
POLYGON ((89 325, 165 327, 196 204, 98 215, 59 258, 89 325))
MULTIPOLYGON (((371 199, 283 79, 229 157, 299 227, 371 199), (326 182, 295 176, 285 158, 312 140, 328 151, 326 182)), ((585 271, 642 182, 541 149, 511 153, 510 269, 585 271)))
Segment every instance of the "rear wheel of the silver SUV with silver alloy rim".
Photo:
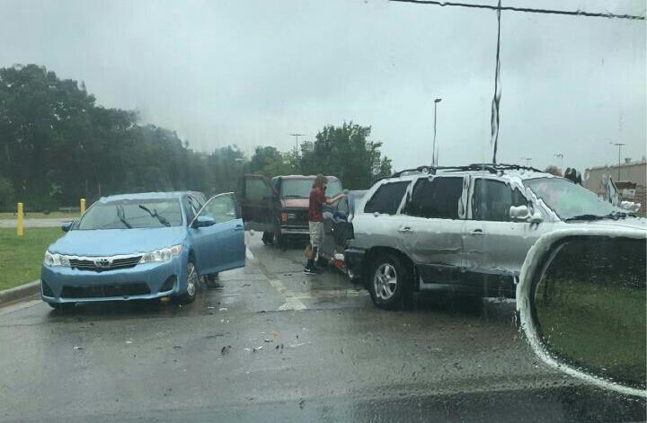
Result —
POLYGON ((402 310, 412 303, 412 271, 394 254, 380 254, 372 260, 368 292, 373 304, 386 310, 402 310))

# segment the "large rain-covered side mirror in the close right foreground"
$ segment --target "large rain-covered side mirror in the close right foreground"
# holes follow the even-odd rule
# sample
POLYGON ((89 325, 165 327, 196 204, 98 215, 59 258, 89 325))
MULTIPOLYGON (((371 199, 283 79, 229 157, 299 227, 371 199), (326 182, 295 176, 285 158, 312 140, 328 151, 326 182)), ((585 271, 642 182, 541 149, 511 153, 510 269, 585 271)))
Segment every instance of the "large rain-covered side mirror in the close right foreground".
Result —
POLYGON ((640 229, 540 237, 517 286, 518 318, 536 355, 589 383, 647 395, 646 255, 640 229))

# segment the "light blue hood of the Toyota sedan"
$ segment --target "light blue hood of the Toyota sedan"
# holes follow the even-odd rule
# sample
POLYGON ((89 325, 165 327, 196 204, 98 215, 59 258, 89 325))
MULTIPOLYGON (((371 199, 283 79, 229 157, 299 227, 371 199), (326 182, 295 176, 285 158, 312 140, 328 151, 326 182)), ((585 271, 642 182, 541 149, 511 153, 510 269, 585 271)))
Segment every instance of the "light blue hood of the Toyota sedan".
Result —
POLYGON ((183 226, 73 230, 49 245, 49 251, 89 257, 133 254, 182 243, 185 234, 183 226))

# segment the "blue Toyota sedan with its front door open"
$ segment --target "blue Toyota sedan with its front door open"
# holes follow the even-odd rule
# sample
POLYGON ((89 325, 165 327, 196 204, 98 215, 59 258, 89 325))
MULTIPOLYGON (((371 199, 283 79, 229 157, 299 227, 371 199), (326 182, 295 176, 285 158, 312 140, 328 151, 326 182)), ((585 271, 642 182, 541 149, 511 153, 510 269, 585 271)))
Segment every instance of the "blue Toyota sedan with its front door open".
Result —
POLYGON ((195 192, 104 197, 49 245, 40 294, 54 308, 77 302, 195 299, 200 277, 242 268, 244 225, 232 193, 203 204, 195 192))

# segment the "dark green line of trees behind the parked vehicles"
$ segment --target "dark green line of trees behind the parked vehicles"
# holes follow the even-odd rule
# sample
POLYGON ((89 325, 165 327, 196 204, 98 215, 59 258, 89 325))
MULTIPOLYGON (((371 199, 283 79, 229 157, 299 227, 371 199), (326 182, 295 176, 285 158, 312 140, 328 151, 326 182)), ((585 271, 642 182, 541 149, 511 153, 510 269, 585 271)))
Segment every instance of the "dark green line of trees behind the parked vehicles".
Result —
POLYGON ((54 210, 104 195, 192 189, 207 195, 237 188, 244 172, 267 176, 333 174, 350 189, 391 172, 370 127, 326 126, 300 151, 236 145, 191 149, 170 129, 143 124, 134 110, 102 107, 83 83, 44 66, 0 68, 0 208, 22 201, 54 210))

